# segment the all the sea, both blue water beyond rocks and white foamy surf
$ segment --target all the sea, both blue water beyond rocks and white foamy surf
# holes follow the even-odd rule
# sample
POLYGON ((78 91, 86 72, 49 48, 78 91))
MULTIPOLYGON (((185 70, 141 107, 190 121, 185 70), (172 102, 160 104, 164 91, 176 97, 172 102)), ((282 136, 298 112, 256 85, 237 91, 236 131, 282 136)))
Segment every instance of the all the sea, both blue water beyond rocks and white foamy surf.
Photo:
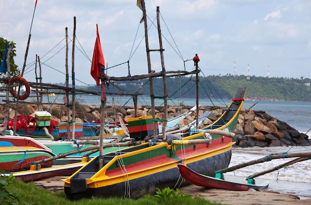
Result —
MULTIPOLYGON (((64 96, 44 96, 43 103, 64 103, 64 96)), ((33 99, 28 101, 34 101, 33 99)), ((26 100, 26 101, 27 101, 26 100)), ((76 101, 87 105, 100 105, 100 96, 77 95, 76 101)), ((219 105, 225 107, 231 100, 200 99, 199 104, 204 106, 219 105)), ((162 105, 163 100, 155 99, 155 105, 162 105)), ((168 105, 196 105, 196 99, 168 99, 168 105)), ((133 105, 131 97, 107 96, 107 104, 133 105)), ((150 96, 139 96, 138 105, 151 105, 150 96)), ((267 114, 286 122, 291 127, 309 135, 311 138, 311 102, 288 102, 288 101, 245 101, 242 108, 265 111, 267 114)), ((232 159, 229 167, 234 165, 258 160, 270 154, 286 152, 311 151, 311 146, 294 147, 249 147, 233 148, 232 159)), ((251 165, 233 172, 225 173, 226 180, 246 182, 246 177, 275 168, 293 158, 274 159, 272 161, 251 165)), ((254 178, 256 184, 269 181, 266 191, 280 192, 299 196, 301 199, 311 199, 311 160, 295 163, 285 168, 264 174, 254 178)))

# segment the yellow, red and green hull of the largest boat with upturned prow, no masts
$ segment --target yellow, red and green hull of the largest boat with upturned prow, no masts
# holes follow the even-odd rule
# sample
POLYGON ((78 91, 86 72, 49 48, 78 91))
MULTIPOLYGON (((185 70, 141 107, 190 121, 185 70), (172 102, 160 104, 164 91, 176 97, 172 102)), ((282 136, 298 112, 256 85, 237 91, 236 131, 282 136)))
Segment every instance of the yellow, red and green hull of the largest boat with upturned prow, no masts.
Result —
MULTIPOLYGON (((217 129, 233 131, 243 104, 245 88, 240 89, 228 109, 217 121, 217 129), (237 106, 238 105, 238 106, 237 106), (231 119, 229 119, 231 116, 231 119), (222 126, 219 123, 224 122, 222 126)), ((228 167, 234 142, 230 137, 212 135, 210 144, 189 144, 191 140, 207 140, 206 134, 184 136, 182 140, 153 145, 143 143, 122 152, 94 157, 71 177, 63 180, 68 198, 90 197, 139 198, 156 192, 156 188, 178 188, 189 185, 179 177, 177 165, 184 163, 198 173, 213 176, 214 171, 228 167), (153 146, 152 146, 153 145, 153 146), (100 168, 100 160, 103 167, 100 168)))

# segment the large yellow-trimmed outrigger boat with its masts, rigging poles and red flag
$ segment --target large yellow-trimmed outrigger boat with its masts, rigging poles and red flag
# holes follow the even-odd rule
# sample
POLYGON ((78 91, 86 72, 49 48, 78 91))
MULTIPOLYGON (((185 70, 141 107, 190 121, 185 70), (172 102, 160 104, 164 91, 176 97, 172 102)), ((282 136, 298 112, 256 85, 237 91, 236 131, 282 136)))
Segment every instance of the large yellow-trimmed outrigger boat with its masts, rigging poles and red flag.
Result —
MULTIPOLYGON (((139 0, 138 5, 143 10, 147 58, 148 61, 150 61, 145 1, 139 0)), ((226 168, 230 163, 231 149, 234 144, 231 136, 234 135, 232 132, 235 129, 239 111, 244 102, 246 88, 237 91, 232 103, 224 110, 220 118, 212 125, 205 127, 204 132, 198 129, 199 117, 197 116, 195 122, 196 130, 184 133, 183 131, 186 129, 183 129, 179 130, 179 132, 182 131, 183 133, 167 134, 165 130, 167 119, 164 117, 162 138, 157 138, 159 133, 157 119, 155 117, 154 98, 156 97, 153 93, 152 78, 161 76, 163 79, 164 97, 159 98, 164 100, 164 114, 166 114, 167 117, 166 75, 163 75, 163 73, 168 72, 165 71, 163 67, 162 55, 164 49, 162 49, 161 44, 158 7, 156 11, 160 49, 153 51, 160 52, 162 72, 152 72, 151 65, 148 64, 152 116, 136 117, 128 120, 129 122, 132 121, 134 126, 132 130, 135 135, 133 134, 132 136, 130 131, 133 146, 107 154, 100 151, 98 156, 94 157, 72 176, 63 180, 65 182, 65 194, 71 200, 91 197, 123 197, 136 199, 155 193, 156 188, 163 189, 165 187, 170 187, 175 189, 189 185, 189 182, 184 181, 180 177, 177 167, 179 163, 186 164, 189 168, 207 176, 213 176, 215 170, 220 169, 220 167, 226 168), (150 135, 153 136, 152 139, 149 138, 150 135)), ((196 84, 198 88, 199 57, 196 55, 193 61, 196 69, 192 74, 196 74, 196 84)), ((91 75, 95 79, 97 86, 99 86, 99 79, 101 80, 102 94, 105 93, 104 89, 107 81, 118 79, 115 77, 107 77, 104 73, 104 65, 97 27, 91 75)), ((180 71, 176 73, 180 75, 180 71)), ((183 74, 189 75, 187 72, 183 74)), ((133 77, 125 77, 122 79, 131 80, 133 77)), ((136 79, 138 79, 138 77, 136 79)), ((102 95, 101 105, 103 108, 101 110, 101 119, 104 118, 105 99, 105 95, 102 95)), ((188 127, 188 130, 190 130, 190 125, 188 127)), ((102 139, 100 139, 100 141, 101 140, 102 139)))

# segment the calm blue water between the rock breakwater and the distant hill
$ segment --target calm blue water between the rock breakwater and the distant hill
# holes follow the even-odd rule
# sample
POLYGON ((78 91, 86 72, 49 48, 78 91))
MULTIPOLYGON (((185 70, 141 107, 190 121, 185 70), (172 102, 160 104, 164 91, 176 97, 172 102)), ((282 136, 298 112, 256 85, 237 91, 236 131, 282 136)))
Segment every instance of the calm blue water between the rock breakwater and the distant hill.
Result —
MULTIPOLYGON (((57 95, 55 97, 43 97, 43 103, 64 103, 63 95, 57 95)), ((34 101, 35 98, 28 98, 26 101, 34 101)), ((87 105, 100 105, 100 96, 94 95, 77 95, 76 101, 81 104, 87 105)), ((229 105, 231 100, 209 100, 209 99, 200 99, 199 104, 201 105, 219 105, 225 107, 229 105)), ((155 99, 155 105, 162 105, 163 100, 155 99)), ((195 99, 169 99, 167 100, 169 105, 189 105, 194 106, 196 104, 195 99)), ((130 97, 119 97, 119 96, 107 96, 107 104, 116 104, 116 105, 133 105, 133 100, 130 97)), ((138 105, 151 105, 151 100, 149 96, 139 96, 138 105)), ((245 101, 243 108, 249 108, 254 105, 251 109, 253 110, 262 110, 267 114, 288 123, 293 128, 307 133, 311 129, 311 102, 286 102, 286 101, 245 101), (255 105, 254 105, 255 104, 255 105)), ((309 133, 307 133, 309 134, 309 133)), ((310 135, 310 134, 309 134, 310 135)))

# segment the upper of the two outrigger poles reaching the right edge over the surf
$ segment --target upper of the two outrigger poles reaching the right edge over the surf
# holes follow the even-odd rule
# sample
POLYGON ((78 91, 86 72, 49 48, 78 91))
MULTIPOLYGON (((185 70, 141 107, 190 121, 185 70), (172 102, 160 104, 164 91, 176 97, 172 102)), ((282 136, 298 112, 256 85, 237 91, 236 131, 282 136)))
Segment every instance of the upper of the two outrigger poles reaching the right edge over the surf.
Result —
POLYGON ((271 161, 273 159, 292 158, 292 157, 311 157, 311 151, 295 152, 295 153, 270 154, 270 155, 262 157, 262 158, 260 158, 258 160, 251 160, 249 162, 244 162, 244 163, 235 165, 233 167, 229 167, 229 168, 222 169, 222 170, 217 170, 216 173, 222 173, 223 174, 223 173, 231 172, 233 170, 240 169, 240 168, 243 168, 243 167, 247 167, 247 166, 250 166, 250 165, 271 161))

